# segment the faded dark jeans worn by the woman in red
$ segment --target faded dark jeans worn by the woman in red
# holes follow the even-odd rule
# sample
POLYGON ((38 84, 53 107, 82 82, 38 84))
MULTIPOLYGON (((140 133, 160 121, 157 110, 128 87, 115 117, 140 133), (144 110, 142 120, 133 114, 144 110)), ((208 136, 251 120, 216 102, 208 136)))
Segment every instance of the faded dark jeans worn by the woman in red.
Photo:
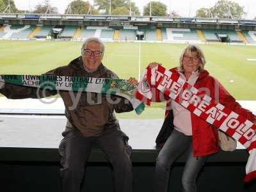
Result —
POLYGON ((163 148, 159 152, 154 173, 154 192, 167 192, 170 170, 172 164, 184 153, 188 159, 182 175, 182 190, 184 192, 196 191, 196 177, 204 165, 205 157, 194 157, 192 149, 192 136, 173 129, 163 148))

